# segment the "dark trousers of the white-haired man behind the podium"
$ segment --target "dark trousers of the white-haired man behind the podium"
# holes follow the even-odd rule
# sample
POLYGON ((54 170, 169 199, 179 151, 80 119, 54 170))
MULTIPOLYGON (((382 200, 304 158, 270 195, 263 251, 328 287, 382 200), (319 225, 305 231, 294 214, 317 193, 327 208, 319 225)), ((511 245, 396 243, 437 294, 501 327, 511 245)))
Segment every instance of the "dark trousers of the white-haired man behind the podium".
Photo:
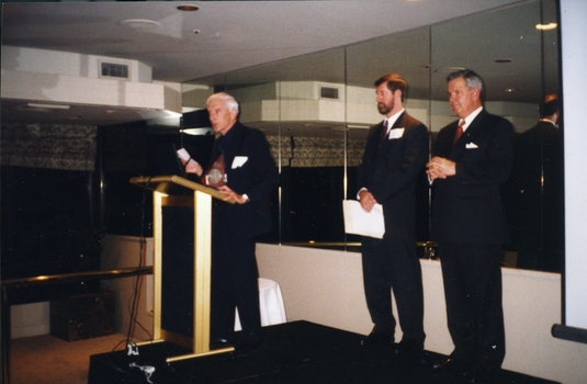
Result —
POLYGON ((255 239, 230 223, 228 210, 219 205, 213 213, 211 339, 232 339, 237 307, 240 341, 257 343, 261 315, 255 239))

